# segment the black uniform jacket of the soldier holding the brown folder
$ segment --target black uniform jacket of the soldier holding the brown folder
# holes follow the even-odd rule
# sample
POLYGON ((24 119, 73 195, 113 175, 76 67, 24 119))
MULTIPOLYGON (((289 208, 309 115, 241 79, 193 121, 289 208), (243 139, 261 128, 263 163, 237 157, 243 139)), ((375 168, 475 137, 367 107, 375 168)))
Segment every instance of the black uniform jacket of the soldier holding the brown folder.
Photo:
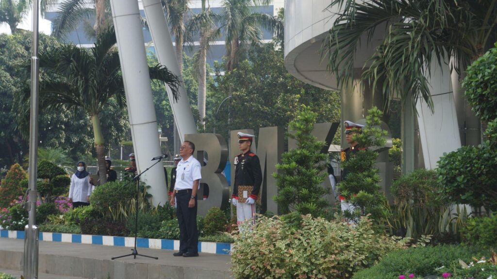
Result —
POLYGON ((259 157, 248 151, 237 155, 234 164, 235 182, 233 183, 232 198, 238 199, 238 186, 253 186, 253 191, 249 197, 257 200, 260 185, 262 184, 259 157))

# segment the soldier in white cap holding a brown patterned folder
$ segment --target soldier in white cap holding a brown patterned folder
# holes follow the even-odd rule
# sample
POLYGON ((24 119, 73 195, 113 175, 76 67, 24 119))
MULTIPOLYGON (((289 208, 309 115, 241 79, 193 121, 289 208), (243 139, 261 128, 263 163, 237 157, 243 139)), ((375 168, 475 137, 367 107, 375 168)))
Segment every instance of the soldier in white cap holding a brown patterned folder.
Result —
POLYGON ((255 201, 260 203, 259 190, 262 184, 259 157, 250 152, 255 136, 238 132, 238 146, 242 153, 235 157, 235 182, 233 183, 232 204, 237 207, 237 224, 246 220, 255 222, 255 201))

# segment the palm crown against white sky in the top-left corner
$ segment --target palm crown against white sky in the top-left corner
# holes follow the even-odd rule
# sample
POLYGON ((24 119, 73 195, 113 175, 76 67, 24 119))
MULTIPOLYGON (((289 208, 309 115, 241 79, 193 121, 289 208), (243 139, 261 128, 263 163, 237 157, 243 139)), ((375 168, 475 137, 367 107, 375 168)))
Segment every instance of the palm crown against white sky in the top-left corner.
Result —
MULTIPOLYGON (((40 11, 44 15, 47 8, 56 3, 57 0, 41 0, 40 11)), ((28 13, 31 0, 1 0, 0 1, 0 23, 7 23, 10 32, 17 31, 17 25, 21 23, 23 17, 28 13)))

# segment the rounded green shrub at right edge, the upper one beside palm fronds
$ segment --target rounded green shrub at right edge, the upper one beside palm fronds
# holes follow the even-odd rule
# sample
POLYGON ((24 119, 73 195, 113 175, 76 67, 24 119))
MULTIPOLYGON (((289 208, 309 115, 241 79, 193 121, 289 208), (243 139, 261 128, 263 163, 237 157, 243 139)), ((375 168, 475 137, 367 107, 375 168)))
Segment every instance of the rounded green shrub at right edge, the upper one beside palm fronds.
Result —
POLYGON ((466 70, 462 86, 476 116, 484 121, 497 118, 497 43, 496 48, 478 58, 466 70))

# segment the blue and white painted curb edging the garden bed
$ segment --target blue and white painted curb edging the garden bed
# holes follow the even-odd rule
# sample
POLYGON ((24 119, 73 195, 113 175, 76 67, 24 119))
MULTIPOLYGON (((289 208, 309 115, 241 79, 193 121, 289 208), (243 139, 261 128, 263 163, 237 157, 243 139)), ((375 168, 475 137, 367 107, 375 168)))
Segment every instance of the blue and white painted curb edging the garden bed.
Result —
MULTIPOLYGON (((24 231, 0 230, 0 237, 24 239, 24 231)), ((134 237, 124 237, 124 236, 40 232, 39 238, 42 241, 83 243, 83 244, 107 245, 107 246, 124 246, 124 247, 135 246, 134 237)), ((165 250, 179 250, 179 240, 138 237, 136 239, 136 247, 165 249, 165 250)), ((230 243, 201 242, 201 241, 198 242, 198 252, 227 255, 230 253, 230 250, 231 250, 230 243)))

